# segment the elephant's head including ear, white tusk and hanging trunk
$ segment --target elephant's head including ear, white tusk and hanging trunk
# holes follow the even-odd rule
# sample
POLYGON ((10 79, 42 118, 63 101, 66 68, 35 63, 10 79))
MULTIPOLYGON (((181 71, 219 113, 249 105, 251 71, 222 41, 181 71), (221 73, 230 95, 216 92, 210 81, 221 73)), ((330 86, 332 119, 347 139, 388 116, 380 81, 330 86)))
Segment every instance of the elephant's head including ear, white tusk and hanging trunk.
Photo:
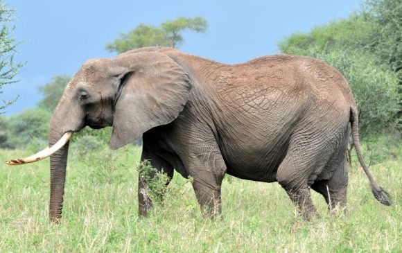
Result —
POLYGON ((26 159, 35 162, 51 156, 49 216, 61 217, 69 138, 89 125, 113 126, 110 147, 120 148, 143 132, 170 123, 189 97, 188 74, 172 58, 155 51, 125 53, 116 58, 88 60, 64 90, 53 113, 49 146, 26 159))

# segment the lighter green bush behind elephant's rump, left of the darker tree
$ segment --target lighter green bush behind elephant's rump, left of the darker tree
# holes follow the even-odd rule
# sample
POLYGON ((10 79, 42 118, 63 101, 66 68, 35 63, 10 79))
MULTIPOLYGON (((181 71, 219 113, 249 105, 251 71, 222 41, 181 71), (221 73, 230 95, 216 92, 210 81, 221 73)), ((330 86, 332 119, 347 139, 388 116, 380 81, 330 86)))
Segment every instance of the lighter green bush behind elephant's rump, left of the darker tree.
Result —
POLYGON ((283 53, 319 58, 347 78, 360 111, 362 137, 401 128, 398 73, 372 51, 374 26, 368 15, 354 14, 309 33, 295 33, 279 42, 283 53))

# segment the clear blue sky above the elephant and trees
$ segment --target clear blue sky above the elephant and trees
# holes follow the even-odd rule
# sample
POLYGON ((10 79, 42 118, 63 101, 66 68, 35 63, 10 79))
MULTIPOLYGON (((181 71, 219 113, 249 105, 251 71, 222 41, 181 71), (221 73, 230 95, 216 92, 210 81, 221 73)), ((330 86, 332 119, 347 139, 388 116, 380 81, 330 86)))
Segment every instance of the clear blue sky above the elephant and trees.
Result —
POLYGON ((277 43, 295 32, 349 17, 358 0, 304 1, 27 1, 5 0, 16 10, 16 60, 26 62, 2 98, 19 95, 6 115, 35 107, 37 87, 52 76, 73 74, 88 58, 113 57, 105 45, 138 24, 159 25, 176 17, 202 16, 205 34, 184 33, 181 50, 225 63, 279 53, 277 43))

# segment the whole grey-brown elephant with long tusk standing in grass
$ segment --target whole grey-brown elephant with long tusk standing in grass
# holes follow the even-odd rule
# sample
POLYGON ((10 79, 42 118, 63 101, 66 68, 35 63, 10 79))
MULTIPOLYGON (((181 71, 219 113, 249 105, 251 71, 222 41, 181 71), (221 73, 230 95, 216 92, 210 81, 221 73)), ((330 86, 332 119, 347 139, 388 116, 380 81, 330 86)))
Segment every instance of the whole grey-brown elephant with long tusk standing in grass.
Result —
MULTIPOLYGON (((50 156, 49 218, 62 216, 69 139, 85 126, 112 126, 110 148, 143 138, 141 161, 171 179, 192 177, 204 216, 221 214, 227 173, 278 182, 302 217, 318 216, 311 189, 329 209, 346 209, 349 131, 375 198, 391 205, 360 150, 358 110, 347 80, 328 64, 272 55, 222 64, 176 49, 146 47, 85 62, 55 108, 49 146, 8 164, 50 156)), ((139 216, 152 200, 142 191, 139 216)))

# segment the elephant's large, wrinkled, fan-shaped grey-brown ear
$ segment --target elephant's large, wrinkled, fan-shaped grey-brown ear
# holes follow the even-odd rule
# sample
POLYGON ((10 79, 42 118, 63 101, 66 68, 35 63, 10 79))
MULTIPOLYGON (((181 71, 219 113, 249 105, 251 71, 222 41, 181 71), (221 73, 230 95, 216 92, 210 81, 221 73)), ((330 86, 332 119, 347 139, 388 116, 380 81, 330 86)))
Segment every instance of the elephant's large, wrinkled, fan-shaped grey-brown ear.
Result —
POLYGON ((115 64, 125 69, 114 105, 112 149, 132 143, 158 125, 175 120, 191 89, 189 75, 163 53, 121 55, 115 64))

